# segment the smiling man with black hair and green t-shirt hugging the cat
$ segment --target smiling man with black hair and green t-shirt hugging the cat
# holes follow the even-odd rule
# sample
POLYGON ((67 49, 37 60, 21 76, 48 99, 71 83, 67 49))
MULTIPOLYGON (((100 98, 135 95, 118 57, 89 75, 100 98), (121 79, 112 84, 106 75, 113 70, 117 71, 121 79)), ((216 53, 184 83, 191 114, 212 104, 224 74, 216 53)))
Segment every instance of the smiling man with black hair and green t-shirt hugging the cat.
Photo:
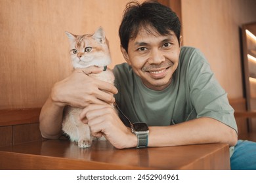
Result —
POLYGON ((71 105, 84 108, 80 117, 93 136, 104 135, 116 148, 235 146, 238 131, 226 92, 202 53, 181 47, 180 33, 179 18, 168 7, 156 1, 129 3, 119 27, 127 63, 114 68, 116 88, 84 75, 103 70, 97 67, 57 82, 41 111, 43 137, 60 136, 63 108, 71 105), (115 101, 133 130, 106 105, 115 101))

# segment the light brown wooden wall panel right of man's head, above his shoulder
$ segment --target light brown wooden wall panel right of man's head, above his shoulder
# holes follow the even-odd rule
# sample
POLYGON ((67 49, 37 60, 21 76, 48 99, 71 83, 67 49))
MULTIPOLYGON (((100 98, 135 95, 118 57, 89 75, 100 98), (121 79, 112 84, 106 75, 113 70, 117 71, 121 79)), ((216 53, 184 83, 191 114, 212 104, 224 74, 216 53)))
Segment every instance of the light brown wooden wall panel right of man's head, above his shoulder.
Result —
POLYGON ((256 20, 255 0, 181 0, 183 41, 205 54, 230 99, 243 96, 239 27, 256 20))

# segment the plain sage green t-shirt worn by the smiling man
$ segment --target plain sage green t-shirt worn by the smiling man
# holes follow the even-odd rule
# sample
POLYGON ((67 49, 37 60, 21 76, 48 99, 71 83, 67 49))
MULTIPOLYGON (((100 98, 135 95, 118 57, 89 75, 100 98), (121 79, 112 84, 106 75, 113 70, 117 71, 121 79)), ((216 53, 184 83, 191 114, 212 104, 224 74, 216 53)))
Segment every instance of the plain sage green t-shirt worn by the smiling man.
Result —
POLYGON ((196 48, 181 48, 171 84, 162 91, 147 88, 127 63, 116 65, 114 75, 116 103, 131 122, 166 126, 209 117, 238 131, 226 92, 196 48))

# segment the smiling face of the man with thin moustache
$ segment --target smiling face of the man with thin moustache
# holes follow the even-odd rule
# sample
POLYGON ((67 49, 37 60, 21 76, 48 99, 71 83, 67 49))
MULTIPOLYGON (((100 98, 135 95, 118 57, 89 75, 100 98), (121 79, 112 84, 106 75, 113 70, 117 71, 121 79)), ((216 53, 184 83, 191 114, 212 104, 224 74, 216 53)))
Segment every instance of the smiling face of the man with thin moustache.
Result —
POLYGON ((181 47, 173 33, 160 35, 154 29, 149 33, 140 29, 135 39, 129 40, 128 53, 121 48, 127 63, 140 76, 144 85, 152 90, 163 90, 171 84, 178 67, 181 47))

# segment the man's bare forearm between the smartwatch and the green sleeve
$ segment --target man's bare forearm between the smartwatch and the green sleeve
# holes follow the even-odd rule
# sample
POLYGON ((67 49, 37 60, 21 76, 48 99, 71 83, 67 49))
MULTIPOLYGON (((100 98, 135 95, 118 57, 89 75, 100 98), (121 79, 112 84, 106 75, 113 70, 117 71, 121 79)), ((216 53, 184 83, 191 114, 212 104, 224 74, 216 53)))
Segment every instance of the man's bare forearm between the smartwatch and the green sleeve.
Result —
POLYGON ((198 118, 177 125, 150 127, 148 146, 180 146, 214 142, 234 146, 236 141, 236 131, 231 127, 213 118, 198 118))

